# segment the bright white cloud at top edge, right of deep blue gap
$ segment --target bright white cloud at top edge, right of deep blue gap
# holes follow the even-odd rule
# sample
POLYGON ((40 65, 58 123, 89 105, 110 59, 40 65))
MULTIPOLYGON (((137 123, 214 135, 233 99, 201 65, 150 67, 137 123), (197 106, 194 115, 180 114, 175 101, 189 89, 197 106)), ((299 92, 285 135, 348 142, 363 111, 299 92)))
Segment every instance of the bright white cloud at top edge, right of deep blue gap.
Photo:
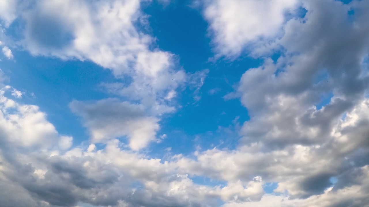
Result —
POLYGON ((234 57, 247 47, 268 40, 282 29, 285 14, 297 6, 295 0, 283 1, 208 1, 204 17, 209 22, 215 51, 234 57))

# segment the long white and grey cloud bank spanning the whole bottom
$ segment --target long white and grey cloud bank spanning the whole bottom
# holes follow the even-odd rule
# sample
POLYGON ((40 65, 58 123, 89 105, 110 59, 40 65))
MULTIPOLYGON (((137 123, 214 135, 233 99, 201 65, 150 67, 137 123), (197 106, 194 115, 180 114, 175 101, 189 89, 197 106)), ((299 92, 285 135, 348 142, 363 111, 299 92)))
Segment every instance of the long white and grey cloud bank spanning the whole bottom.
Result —
MULTIPOLYGON (((2 96, 1 100, 5 105, 10 99, 2 96)), ((199 152, 195 159, 174 155, 170 161, 162 162, 160 159, 149 159, 142 154, 121 150, 122 143, 114 138, 107 141, 102 150, 96 150, 96 146, 90 144, 86 151, 75 147, 62 154, 55 151, 53 146, 65 150, 72 144, 72 137, 59 135, 36 106, 20 105, 13 101, 11 107, 18 107, 17 110, 7 112, 4 107, 2 119, 15 120, 14 117, 22 117, 24 120, 38 121, 18 122, 18 118, 17 123, 0 122, 2 131, 7 132, 1 136, 3 145, 0 147, 0 170, 3 176, 0 177, 0 182, 17 191, 14 194, 1 192, 0 198, 6 196, 10 206, 18 204, 17 202, 37 206, 73 206, 81 201, 93 206, 118 206, 121 200, 128 206, 214 206, 218 197, 226 202, 224 206, 258 206, 266 202, 272 202, 275 206, 304 206, 307 203, 309 206, 362 206, 365 204, 366 194, 369 193, 365 188, 369 178, 368 165, 359 164, 354 172, 347 170, 353 169, 349 163, 359 159, 355 157, 357 147, 350 147, 352 150, 349 152, 342 148, 348 144, 342 137, 358 137, 357 134, 365 133, 367 127, 361 123, 368 119, 368 102, 365 100, 359 103, 347 114, 345 120, 337 123, 334 128, 337 138, 330 145, 291 145, 283 150, 262 151, 262 144, 253 144, 233 151, 213 149, 199 152), (13 125, 19 125, 17 130, 13 129, 13 125), (38 137, 35 143, 39 144, 34 145, 36 148, 32 150, 36 152, 34 154, 28 153, 31 145, 20 145, 22 142, 13 140, 14 137, 30 138, 32 133, 28 129, 33 129, 32 133, 37 133, 34 137, 38 137), (44 133, 50 129, 54 135, 45 136, 44 133), (19 135, 20 131, 27 133, 19 135), (356 134, 348 135, 349 133, 356 134), (19 148, 23 150, 20 151, 19 148), (338 178, 338 182, 330 190, 325 190, 327 169, 331 173, 326 176, 328 179, 330 176, 338 178), (226 180, 227 185, 197 185, 186 174, 226 180), (298 180, 295 181, 295 178, 298 180), (14 179, 19 182, 13 182, 14 179), (141 183, 144 189, 135 188, 133 180, 141 183), (311 186, 316 180, 321 180, 323 188, 311 186), (279 182, 277 190, 286 189, 289 195, 265 194, 262 185, 266 182, 279 182), (315 189, 325 191, 320 195, 313 193, 306 199, 291 200, 292 196, 299 195, 296 192, 304 192, 306 189, 310 192, 315 189), (50 191, 58 192, 58 196, 48 193, 50 191), (261 203, 256 203, 259 200, 261 203)), ((82 117, 87 116, 87 112, 90 112, 90 116, 117 106, 135 108, 125 102, 117 101, 115 104, 115 107, 104 109, 97 107, 105 106, 103 101, 72 102, 71 107, 83 109, 79 111, 82 117)), ((106 114, 101 113, 104 116, 106 114)), ((110 114, 115 115, 113 111, 110 114)), ((96 117, 96 120, 99 118, 101 117, 96 117)), ((104 120, 106 123, 114 123, 110 122, 113 120, 111 117, 101 120, 99 124, 104 124, 104 120)), ((94 126, 95 123, 90 124, 94 126)), ((364 143, 356 142, 354 146, 363 146, 364 143)), ((362 156, 365 154, 360 154, 362 156)))

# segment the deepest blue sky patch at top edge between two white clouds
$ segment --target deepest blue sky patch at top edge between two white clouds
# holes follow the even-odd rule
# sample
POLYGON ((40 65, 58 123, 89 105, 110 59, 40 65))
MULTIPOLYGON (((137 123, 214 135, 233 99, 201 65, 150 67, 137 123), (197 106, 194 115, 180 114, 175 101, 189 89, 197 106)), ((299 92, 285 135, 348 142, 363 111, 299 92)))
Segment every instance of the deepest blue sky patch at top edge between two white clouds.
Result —
POLYGON ((158 1, 153 1, 144 8, 144 12, 150 15, 151 34, 156 37, 159 49, 179 56, 186 72, 193 73, 206 69, 208 57, 214 54, 206 35, 207 22, 199 11, 188 7, 188 3, 175 1, 163 7, 158 1))

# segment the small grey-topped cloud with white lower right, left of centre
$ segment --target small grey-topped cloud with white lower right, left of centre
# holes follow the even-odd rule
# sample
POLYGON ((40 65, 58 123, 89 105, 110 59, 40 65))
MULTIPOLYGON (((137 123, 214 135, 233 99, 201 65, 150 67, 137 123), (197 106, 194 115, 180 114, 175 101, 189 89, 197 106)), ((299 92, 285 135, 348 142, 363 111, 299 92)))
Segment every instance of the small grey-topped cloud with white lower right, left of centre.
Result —
POLYGON ((127 136, 129 146, 139 150, 155 140, 159 119, 145 115, 145 107, 118 99, 104 99, 94 103, 73 101, 73 112, 83 118, 92 142, 105 142, 127 136))

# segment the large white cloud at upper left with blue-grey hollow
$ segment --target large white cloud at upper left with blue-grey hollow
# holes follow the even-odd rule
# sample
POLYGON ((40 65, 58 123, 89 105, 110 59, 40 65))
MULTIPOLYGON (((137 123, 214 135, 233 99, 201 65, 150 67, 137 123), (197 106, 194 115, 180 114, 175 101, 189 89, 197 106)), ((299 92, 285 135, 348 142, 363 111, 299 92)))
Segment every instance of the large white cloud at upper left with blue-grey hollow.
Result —
POLYGON ((117 79, 119 87, 108 91, 153 110, 164 108, 159 113, 172 110, 165 109, 172 107, 165 97, 186 82, 186 73, 172 53, 159 50, 155 38, 146 34, 148 17, 140 1, 32 1, 13 6, 18 11, 13 15, 24 22, 14 25, 24 38, 13 39, 32 55, 92 61, 117 79))

